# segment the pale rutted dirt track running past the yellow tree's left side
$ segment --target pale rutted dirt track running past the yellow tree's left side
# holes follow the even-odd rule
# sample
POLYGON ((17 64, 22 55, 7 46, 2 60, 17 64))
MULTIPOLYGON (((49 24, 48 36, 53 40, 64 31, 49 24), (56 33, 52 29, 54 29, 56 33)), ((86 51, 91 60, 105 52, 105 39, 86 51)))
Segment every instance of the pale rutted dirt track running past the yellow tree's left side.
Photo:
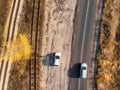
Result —
MULTIPOLYGON (((19 19, 18 14, 21 12, 20 7, 22 7, 22 4, 23 4, 22 0, 18 0, 18 1, 14 0, 12 2, 11 13, 8 17, 6 27, 5 27, 5 31, 8 30, 8 32, 6 34, 7 37, 6 37, 6 42, 4 43, 4 46, 7 44, 8 41, 10 42, 16 37, 14 36, 17 33, 16 23, 17 23, 17 19, 19 19)), ((6 56, 5 52, 6 52, 6 47, 4 47, 3 54, 2 54, 3 60, 2 60, 2 65, 1 65, 2 67, 0 71, 0 74, 1 74, 0 90, 7 90, 11 64, 12 64, 11 56, 9 56, 9 60, 4 58, 6 56)))

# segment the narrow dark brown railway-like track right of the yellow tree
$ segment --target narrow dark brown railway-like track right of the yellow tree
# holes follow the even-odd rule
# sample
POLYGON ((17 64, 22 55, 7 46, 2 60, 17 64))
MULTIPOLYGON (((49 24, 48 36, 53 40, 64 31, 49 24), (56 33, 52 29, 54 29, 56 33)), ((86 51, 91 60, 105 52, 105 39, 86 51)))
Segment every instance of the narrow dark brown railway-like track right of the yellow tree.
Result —
POLYGON ((38 42, 39 42, 39 20, 40 20, 40 0, 33 0, 33 11, 32 11, 32 23, 31 23, 31 36, 30 44, 33 52, 29 61, 29 90, 38 90, 39 86, 39 53, 38 53, 38 42))

